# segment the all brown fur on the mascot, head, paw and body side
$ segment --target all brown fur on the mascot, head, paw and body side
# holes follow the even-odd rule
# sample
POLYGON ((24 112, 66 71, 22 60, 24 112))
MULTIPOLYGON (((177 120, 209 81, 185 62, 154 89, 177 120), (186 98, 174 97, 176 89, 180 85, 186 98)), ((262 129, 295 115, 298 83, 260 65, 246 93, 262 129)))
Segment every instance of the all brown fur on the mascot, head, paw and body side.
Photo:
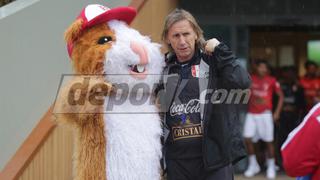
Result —
MULTIPOLYGON (((96 84, 104 84, 110 95, 112 86, 105 82, 104 61, 105 53, 111 48, 115 41, 115 35, 106 23, 95 25, 86 30, 82 30, 82 20, 76 20, 65 32, 67 43, 73 43, 71 55, 75 73, 81 74, 73 78, 63 87, 58 97, 55 108, 65 112, 56 114, 59 124, 66 124, 75 130, 75 148, 73 155, 73 168, 75 180, 106 180, 106 138, 104 133, 103 104, 93 105, 86 102, 81 106, 71 106, 68 103, 72 85, 83 82, 86 75, 98 75, 96 78, 90 76, 89 90, 96 84), (99 44, 102 37, 109 36, 112 42, 99 44), (100 75, 100 76, 99 76, 100 75), (78 113, 77 113, 78 112, 78 113)), ((90 92, 87 92, 90 93, 90 92)))

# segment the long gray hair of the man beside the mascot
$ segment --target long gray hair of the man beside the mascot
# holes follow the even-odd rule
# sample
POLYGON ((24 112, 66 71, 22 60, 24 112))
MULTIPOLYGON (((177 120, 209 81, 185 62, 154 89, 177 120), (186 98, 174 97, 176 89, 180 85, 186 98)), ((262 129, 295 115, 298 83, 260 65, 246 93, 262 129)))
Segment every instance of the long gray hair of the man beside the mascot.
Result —
MULTIPOLYGON (((196 33, 198 39, 196 39, 196 46, 199 47, 200 49, 204 50, 204 44, 205 44, 205 39, 203 37, 203 31, 200 28, 200 26, 198 25, 196 19, 191 15, 191 13, 189 13, 186 10, 183 9, 175 9, 173 10, 166 18, 165 24, 164 24, 164 29, 162 31, 162 41, 166 41, 166 38, 168 36, 168 31, 170 29, 170 27, 178 22, 178 21, 182 21, 182 20, 187 20, 189 21, 191 27, 193 28, 193 31, 196 33)), ((171 47, 170 44, 167 44, 169 48, 169 52, 173 53, 173 49, 171 47)))

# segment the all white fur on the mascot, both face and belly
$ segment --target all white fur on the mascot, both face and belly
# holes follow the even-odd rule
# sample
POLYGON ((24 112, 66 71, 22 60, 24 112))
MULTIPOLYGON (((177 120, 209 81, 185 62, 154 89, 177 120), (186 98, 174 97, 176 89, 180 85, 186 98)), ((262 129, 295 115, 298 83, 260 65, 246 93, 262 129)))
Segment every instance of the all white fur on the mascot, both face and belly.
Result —
MULTIPOLYGON (((139 82, 150 85, 158 82, 159 76, 148 75, 145 80, 137 80, 129 75, 128 65, 137 64, 139 57, 131 50, 132 40, 143 44, 148 50, 149 73, 160 74, 164 59, 160 52, 160 45, 152 43, 148 37, 129 28, 120 21, 111 21, 109 27, 115 32, 116 42, 106 52, 106 79, 112 83, 128 83, 131 87, 139 82)), ((150 94, 143 94, 150 97, 150 94)), ((108 98, 106 99, 108 103, 108 98)), ((126 100, 121 106, 115 106, 114 112, 137 113, 106 113, 105 133, 106 173, 108 180, 158 180, 160 179, 160 158, 162 133, 160 117, 154 105, 146 104, 134 106, 126 100), (139 113, 140 112, 140 113, 139 113)))

